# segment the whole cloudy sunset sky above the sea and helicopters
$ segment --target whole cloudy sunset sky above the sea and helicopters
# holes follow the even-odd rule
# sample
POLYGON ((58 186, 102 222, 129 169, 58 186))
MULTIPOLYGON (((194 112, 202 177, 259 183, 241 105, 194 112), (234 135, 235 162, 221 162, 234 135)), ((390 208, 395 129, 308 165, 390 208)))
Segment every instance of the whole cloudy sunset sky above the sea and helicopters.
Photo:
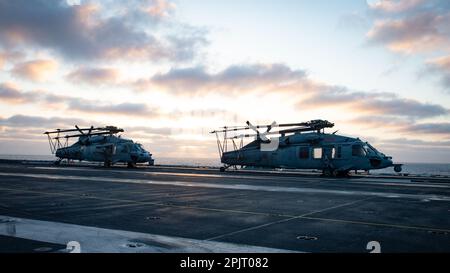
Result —
POLYGON ((397 162, 450 162, 447 0, 0 0, 0 154, 115 125, 217 157, 225 125, 327 119, 397 162))

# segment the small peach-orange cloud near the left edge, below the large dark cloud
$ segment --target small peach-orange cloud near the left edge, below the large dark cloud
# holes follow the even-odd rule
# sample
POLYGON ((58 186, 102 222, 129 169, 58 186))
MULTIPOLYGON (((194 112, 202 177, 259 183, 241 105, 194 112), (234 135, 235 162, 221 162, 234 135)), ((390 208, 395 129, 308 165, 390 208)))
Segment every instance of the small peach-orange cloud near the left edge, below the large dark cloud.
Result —
POLYGON ((54 60, 34 60, 19 63, 12 69, 12 74, 31 81, 43 81, 51 76, 58 68, 54 60))

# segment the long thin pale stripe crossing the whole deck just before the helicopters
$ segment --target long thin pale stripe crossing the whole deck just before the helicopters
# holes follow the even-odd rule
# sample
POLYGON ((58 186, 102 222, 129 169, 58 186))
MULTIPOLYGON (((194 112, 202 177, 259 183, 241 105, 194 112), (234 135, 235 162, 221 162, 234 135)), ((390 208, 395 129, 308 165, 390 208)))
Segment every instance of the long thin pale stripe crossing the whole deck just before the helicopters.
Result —
POLYGON ((223 183, 202 183, 202 182, 184 182, 184 181, 154 181, 149 179, 128 179, 113 177, 85 177, 73 175, 56 175, 56 174, 27 174, 27 173, 0 173, 0 176, 16 176, 31 177, 45 179, 60 180, 80 180, 80 181, 96 181, 96 182, 114 182, 114 183, 133 183, 133 184, 149 184, 149 185, 170 185, 181 187, 200 187, 215 189, 233 189, 233 190, 252 190, 252 191, 268 191, 268 192, 293 192, 293 193, 322 193, 322 194, 340 194, 340 195, 363 195, 384 198, 410 198, 419 200, 434 201, 450 201, 449 196, 435 194, 405 194, 395 192, 374 192, 374 191, 358 191, 358 190, 327 190, 314 189, 305 187, 282 187, 282 186, 263 186, 248 184, 223 184, 223 183))

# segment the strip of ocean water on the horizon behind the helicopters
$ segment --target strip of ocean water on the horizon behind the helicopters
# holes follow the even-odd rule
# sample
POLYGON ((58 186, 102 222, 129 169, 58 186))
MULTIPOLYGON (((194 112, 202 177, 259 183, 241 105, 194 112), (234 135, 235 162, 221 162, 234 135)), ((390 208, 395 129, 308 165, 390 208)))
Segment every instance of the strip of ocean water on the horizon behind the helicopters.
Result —
MULTIPOLYGON (((54 155, 1 155, 0 159, 55 160, 54 155)), ((177 165, 190 167, 220 167, 218 158, 169 158, 155 157, 157 165, 177 165)), ((402 173, 423 176, 450 176, 450 163, 403 163, 402 173)), ((373 174, 395 174, 394 168, 371 170, 373 174)))

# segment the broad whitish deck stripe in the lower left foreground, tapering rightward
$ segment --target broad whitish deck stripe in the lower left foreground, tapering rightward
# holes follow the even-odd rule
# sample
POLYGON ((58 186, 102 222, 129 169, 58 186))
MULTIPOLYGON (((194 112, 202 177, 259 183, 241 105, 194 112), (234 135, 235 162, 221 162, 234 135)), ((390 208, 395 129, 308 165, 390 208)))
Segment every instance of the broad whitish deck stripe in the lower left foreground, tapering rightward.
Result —
POLYGON ((62 245, 76 241, 80 243, 81 252, 88 253, 293 252, 285 249, 104 229, 3 215, 0 215, 0 235, 62 245))

